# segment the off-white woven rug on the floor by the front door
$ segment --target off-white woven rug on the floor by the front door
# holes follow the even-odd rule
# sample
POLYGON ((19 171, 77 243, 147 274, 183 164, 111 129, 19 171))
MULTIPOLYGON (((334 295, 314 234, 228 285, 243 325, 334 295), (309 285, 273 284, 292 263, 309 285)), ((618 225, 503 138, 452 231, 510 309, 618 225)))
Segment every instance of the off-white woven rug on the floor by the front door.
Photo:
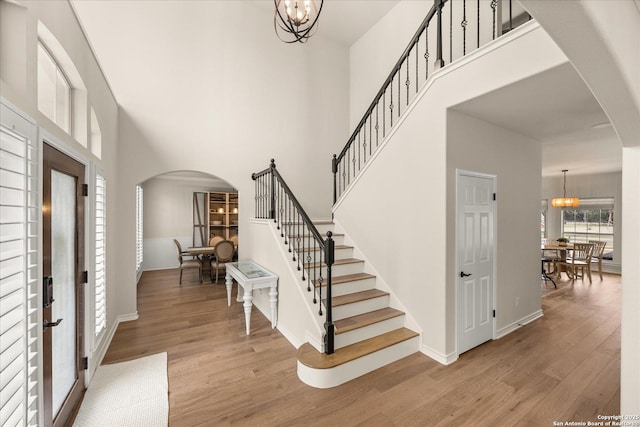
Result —
POLYGON ((168 392, 167 353, 101 365, 73 425, 167 426, 168 392))

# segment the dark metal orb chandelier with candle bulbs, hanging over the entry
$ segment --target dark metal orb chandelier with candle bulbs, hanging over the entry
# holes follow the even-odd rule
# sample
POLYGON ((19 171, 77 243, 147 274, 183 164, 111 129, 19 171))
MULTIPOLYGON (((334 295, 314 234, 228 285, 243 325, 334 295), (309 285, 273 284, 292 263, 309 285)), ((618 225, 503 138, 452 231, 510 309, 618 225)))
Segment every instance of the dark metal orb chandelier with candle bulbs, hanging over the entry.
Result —
POLYGON ((273 0, 276 10, 273 27, 278 38, 285 43, 305 43, 318 29, 318 18, 322 11, 315 0, 273 0))

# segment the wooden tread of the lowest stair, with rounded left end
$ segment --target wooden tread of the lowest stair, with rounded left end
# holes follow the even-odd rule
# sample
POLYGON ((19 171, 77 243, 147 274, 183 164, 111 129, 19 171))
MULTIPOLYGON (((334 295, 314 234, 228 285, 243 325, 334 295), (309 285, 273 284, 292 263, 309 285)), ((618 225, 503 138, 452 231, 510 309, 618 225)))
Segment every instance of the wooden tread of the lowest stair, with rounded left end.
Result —
POLYGON ((314 369, 334 368, 417 336, 417 332, 407 328, 395 329, 385 334, 339 348, 333 354, 320 353, 311 344, 305 343, 298 349, 298 361, 314 369))

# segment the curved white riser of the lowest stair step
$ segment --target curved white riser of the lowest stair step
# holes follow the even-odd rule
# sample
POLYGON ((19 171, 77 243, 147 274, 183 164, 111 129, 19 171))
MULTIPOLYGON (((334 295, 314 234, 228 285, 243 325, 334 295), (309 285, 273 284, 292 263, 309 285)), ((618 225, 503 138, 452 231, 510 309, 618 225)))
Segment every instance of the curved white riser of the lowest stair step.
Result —
POLYGON ((331 369, 314 369, 298 362, 298 378, 311 387, 336 387, 417 352, 419 345, 418 337, 411 338, 331 369))

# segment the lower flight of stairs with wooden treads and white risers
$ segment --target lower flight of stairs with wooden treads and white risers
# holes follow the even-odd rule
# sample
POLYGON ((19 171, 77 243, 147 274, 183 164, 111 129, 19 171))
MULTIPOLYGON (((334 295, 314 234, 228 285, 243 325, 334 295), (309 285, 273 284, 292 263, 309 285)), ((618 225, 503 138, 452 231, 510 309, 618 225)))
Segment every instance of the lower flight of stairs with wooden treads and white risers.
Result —
MULTIPOLYGON (((314 222, 325 234, 331 222, 314 222)), ((296 234, 289 239, 302 237, 296 234)), ((332 269, 335 352, 325 354, 306 343, 298 349, 298 377, 306 384, 328 388, 343 384, 418 351, 419 334, 404 327, 405 314, 389 306, 390 295, 376 288, 376 277, 365 273, 365 262, 353 258, 343 234, 333 234, 332 269)), ((300 251, 307 259, 310 249, 300 251)), ((309 267, 309 265, 305 265, 309 267)), ((323 266, 314 265, 316 268, 323 266)), ((326 277, 323 275, 323 277, 326 277)), ((316 280, 314 287, 325 286, 316 280)), ((323 291, 322 295, 326 295, 323 291)), ((327 300, 322 300, 326 307, 327 300)))

